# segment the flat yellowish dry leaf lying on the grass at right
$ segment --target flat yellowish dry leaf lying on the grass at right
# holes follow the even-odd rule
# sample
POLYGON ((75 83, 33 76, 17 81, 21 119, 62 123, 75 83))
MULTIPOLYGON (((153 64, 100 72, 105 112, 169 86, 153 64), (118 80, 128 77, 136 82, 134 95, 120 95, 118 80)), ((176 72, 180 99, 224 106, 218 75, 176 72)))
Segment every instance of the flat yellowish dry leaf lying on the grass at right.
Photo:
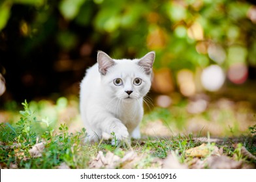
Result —
POLYGON ((219 148, 202 144, 185 151, 185 157, 207 157, 208 155, 220 155, 219 148))

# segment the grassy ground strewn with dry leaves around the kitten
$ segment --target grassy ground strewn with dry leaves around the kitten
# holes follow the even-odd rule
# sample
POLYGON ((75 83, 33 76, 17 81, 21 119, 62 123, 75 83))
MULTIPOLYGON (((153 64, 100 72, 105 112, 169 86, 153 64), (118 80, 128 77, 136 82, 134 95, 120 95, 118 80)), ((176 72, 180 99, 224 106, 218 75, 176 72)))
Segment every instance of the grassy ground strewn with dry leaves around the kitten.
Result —
POLYGON ((75 96, 18 106, 0 113, 1 168, 255 168, 256 117, 246 100, 174 98, 146 109, 142 138, 118 146, 84 144, 75 96))

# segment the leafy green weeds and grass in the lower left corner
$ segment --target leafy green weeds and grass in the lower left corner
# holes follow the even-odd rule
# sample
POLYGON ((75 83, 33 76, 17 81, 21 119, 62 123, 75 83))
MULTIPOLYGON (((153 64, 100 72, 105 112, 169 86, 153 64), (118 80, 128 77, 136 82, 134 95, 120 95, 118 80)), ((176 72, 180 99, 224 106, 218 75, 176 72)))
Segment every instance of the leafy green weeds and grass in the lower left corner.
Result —
POLYGON ((1 163, 7 167, 16 164, 18 168, 54 168, 65 162, 71 168, 76 168, 79 161, 74 156, 84 147, 80 143, 86 135, 85 129, 69 133, 67 125, 63 123, 56 132, 47 119, 37 120, 26 101, 22 105, 24 110, 20 111, 22 117, 18 122, 14 125, 1 123, 1 163), (29 151, 40 142, 44 143, 44 151, 40 157, 31 157, 29 151))

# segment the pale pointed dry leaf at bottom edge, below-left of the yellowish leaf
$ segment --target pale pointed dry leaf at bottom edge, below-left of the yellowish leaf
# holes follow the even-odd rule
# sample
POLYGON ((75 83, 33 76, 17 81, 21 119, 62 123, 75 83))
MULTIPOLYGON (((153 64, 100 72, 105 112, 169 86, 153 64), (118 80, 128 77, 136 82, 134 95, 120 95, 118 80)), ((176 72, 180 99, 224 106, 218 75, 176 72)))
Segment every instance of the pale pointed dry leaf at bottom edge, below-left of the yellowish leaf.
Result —
POLYGON ((164 169, 187 169, 186 164, 181 164, 175 153, 172 151, 168 154, 167 158, 163 161, 163 168, 164 169))

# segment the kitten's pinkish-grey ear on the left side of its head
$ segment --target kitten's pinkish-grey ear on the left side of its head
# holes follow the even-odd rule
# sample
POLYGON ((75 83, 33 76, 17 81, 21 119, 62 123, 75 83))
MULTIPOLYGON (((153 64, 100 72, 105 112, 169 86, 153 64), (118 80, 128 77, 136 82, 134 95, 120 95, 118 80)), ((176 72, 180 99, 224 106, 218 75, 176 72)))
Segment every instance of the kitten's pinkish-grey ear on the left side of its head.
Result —
POLYGON ((106 75, 108 68, 115 64, 114 60, 112 60, 106 53, 103 51, 98 51, 97 62, 99 64, 99 72, 102 75, 106 75))

